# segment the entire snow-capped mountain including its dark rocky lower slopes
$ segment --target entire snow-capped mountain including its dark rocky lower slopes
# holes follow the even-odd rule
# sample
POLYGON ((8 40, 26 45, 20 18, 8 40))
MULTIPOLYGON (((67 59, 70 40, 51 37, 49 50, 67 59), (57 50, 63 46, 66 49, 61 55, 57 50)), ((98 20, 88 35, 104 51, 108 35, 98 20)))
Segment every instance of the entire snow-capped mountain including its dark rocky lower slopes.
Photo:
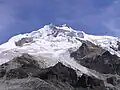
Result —
POLYGON ((0 90, 120 90, 120 39, 46 25, 0 45, 0 90))

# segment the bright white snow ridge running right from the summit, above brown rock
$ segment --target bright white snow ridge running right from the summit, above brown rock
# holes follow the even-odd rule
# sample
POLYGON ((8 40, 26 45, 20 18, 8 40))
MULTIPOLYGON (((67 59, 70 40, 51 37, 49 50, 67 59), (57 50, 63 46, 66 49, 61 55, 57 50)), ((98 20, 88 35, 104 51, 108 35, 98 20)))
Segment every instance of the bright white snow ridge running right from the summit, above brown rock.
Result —
POLYGON ((84 40, 91 41, 95 45, 102 47, 103 49, 108 50, 111 54, 115 54, 120 57, 120 38, 113 36, 94 36, 86 34, 84 40))

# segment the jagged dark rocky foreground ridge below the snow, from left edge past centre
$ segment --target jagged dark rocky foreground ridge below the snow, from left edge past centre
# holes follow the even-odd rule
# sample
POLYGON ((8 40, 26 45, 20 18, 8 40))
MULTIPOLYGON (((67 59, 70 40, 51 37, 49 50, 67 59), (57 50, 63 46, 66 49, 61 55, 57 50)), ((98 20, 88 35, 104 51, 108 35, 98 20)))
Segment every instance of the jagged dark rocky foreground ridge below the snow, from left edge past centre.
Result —
POLYGON ((102 80, 85 74, 78 77, 62 63, 42 69, 28 54, 1 65, 0 75, 0 90, 106 90, 102 80))

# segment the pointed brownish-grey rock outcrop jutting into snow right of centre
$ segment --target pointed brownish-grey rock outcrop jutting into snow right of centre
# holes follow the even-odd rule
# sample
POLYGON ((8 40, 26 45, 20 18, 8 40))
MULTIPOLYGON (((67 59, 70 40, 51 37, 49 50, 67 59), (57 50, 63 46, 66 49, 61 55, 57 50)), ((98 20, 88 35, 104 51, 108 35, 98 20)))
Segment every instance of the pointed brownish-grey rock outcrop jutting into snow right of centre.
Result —
POLYGON ((74 57, 76 60, 86 57, 94 57, 96 55, 101 55, 103 52, 105 52, 104 49, 94 45, 89 41, 80 41, 82 42, 81 47, 79 47, 77 51, 71 53, 71 57, 74 57))

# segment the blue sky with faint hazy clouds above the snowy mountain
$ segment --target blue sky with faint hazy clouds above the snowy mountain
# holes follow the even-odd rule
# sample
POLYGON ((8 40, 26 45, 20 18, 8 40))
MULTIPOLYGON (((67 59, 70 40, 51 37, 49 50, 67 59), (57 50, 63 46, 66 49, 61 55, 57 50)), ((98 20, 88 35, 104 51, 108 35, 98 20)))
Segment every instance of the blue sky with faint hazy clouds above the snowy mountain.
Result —
POLYGON ((120 0, 0 0, 0 43, 45 24, 120 36, 120 0))

